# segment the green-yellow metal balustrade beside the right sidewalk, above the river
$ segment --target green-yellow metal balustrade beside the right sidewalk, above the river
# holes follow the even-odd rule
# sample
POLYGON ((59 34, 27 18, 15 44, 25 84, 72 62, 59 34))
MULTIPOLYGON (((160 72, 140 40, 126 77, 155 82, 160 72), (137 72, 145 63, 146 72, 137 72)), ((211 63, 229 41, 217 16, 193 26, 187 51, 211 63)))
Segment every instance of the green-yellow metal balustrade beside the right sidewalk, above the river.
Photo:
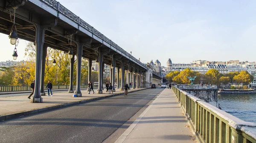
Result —
POLYGON ((256 143, 256 124, 243 121, 172 86, 200 143, 256 143))

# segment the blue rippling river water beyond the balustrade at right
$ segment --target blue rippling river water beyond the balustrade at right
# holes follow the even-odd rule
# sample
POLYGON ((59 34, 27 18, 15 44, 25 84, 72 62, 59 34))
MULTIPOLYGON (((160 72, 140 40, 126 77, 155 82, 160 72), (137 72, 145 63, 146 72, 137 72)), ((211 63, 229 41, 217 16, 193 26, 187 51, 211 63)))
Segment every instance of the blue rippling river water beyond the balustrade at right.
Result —
POLYGON ((256 123, 256 94, 218 94, 218 103, 223 111, 256 123))

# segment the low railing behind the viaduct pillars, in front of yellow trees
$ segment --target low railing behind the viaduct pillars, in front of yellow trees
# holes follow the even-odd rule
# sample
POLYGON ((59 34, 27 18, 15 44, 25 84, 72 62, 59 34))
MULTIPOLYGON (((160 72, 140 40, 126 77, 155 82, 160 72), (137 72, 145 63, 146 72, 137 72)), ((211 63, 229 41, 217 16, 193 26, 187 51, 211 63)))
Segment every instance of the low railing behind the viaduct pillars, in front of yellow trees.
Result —
MULTIPOLYGON (((81 88, 87 88, 88 85, 80 85, 81 88)), ((98 85, 93 85, 93 87, 98 88, 98 85)), ((46 89, 46 85, 44 86, 46 89)), ((52 85, 52 90, 59 89, 69 89, 69 85, 52 85)), ((76 89, 76 85, 73 85, 73 89, 76 89)), ((15 91, 30 91, 31 88, 29 85, 21 85, 21 86, 0 86, 0 92, 15 92, 15 91)))

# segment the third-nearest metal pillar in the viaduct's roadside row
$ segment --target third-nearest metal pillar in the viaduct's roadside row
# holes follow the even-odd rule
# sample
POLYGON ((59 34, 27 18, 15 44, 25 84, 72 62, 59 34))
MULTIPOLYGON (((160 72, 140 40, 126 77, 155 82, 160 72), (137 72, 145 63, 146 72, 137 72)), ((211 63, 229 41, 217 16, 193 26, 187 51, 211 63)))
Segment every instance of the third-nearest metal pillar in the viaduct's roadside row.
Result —
POLYGON ((103 52, 99 50, 99 73, 98 73, 99 87, 97 93, 102 94, 102 77, 103 77, 103 52))

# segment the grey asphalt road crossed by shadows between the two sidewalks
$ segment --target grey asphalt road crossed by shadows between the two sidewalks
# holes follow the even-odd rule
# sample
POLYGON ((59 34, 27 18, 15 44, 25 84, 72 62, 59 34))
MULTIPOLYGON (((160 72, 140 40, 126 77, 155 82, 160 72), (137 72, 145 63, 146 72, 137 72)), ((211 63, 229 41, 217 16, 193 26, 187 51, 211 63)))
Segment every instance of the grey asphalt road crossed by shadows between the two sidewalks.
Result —
POLYGON ((0 143, 101 143, 162 90, 157 87, 3 121, 0 143))

